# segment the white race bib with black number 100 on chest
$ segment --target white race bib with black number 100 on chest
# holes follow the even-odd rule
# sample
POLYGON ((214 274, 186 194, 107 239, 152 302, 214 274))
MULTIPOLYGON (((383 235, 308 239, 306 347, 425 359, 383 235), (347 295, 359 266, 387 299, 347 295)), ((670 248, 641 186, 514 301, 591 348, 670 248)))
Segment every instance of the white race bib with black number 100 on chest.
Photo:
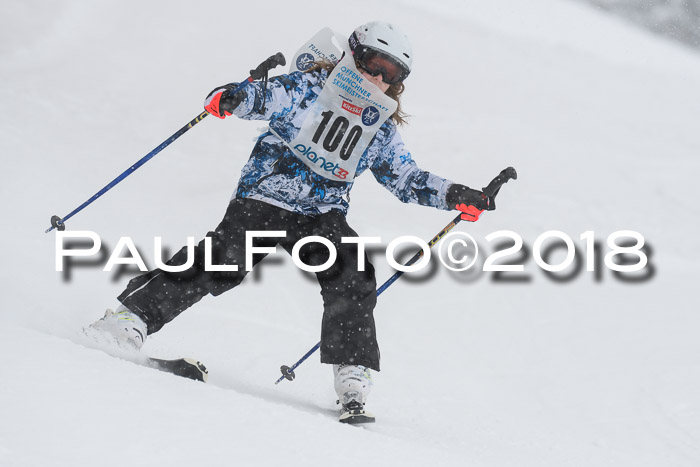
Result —
POLYGON ((343 58, 288 144, 317 174, 350 182, 362 154, 397 103, 360 74, 350 47, 345 43, 341 47, 343 58))

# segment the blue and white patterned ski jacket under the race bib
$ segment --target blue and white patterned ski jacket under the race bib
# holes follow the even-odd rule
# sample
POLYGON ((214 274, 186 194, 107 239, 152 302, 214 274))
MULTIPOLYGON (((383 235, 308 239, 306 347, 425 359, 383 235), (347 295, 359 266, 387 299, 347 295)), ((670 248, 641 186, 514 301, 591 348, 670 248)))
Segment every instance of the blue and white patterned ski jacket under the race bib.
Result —
MULTIPOLYGON (((253 82, 244 88, 246 96, 233 113, 246 120, 269 120, 277 135, 291 141, 299 133, 327 76, 325 70, 320 70, 270 78, 262 114, 263 86, 253 82)), ((347 214, 353 182, 329 180, 316 174, 277 135, 269 130, 260 135, 243 167, 234 197, 257 199, 305 215, 331 209, 347 214)), ((450 209, 445 194, 453 182, 418 168, 391 119, 381 126, 362 154, 355 176, 367 169, 404 203, 450 209)))

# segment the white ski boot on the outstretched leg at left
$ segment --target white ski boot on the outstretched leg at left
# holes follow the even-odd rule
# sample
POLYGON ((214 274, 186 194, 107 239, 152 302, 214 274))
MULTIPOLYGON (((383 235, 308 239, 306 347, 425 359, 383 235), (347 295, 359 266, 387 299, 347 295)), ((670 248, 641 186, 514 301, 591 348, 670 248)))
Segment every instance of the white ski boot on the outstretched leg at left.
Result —
POLYGON ((116 344, 127 351, 138 351, 146 340, 147 328, 139 316, 122 305, 116 312, 107 310, 102 319, 85 328, 85 334, 98 342, 116 344))

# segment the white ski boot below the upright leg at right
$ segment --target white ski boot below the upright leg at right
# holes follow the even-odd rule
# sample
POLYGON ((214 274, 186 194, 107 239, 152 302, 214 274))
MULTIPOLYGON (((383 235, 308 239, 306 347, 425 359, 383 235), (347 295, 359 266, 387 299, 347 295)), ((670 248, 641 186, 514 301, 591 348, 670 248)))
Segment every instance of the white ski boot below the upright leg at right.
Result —
POLYGON ((372 388, 369 368, 359 365, 333 365, 333 374, 338 403, 343 406, 338 421, 350 424, 374 423, 374 415, 365 411, 367 395, 372 388))

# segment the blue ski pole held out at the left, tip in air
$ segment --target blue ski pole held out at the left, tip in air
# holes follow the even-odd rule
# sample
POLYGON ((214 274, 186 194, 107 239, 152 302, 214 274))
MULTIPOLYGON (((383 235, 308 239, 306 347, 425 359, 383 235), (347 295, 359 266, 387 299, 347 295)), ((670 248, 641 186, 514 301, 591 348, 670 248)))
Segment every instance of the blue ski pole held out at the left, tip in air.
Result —
MULTIPOLYGON (((272 68, 275 68, 277 65, 284 66, 285 64, 286 64, 286 60, 284 58, 284 55, 282 55, 282 52, 277 52, 275 55, 269 57, 267 60, 262 62, 260 65, 258 65, 257 68, 255 68, 254 70, 250 70, 250 76, 248 78, 246 78, 243 82, 241 82, 241 84, 239 84, 236 89, 234 89, 233 94, 241 91, 249 83, 252 83, 256 79, 261 79, 263 76, 267 76, 267 72, 270 71, 272 68)), ((117 185, 122 180, 124 180, 126 177, 128 177, 129 175, 134 173, 136 171, 136 169, 141 167, 143 164, 145 164, 146 162, 151 160, 156 154, 158 154, 163 149, 168 147, 170 145, 170 143, 172 143, 173 141, 178 139, 180 136, 185 134, 185 132, 187 132, 187 130, 189 130, 190 128, 195 126, 197 123, 201 122, 207 115, 209 115, 209 112, 207 112, 206 110, 204 112, 202 112, 201 114, 197 115, 187 125, 183 126, 178 131, 176 131, 170 138, 163 141, 158 147, 156 147, 151 152, 149 152, 148 154, 143 156, 141 159, 139 159, 134 165, 132 165, 131 167, 126 169, 124 172, 122 172, 117 178, 115 178, 114 180, 109 182, 107 185, 105 185, 104 188, 102 188, 100 191, 95 193, 90 199, 88 199, 83 204, 81 204, 80 206, 75 208, 68 215, 64 216, 63 218, 61 218, 59 216, 52 216, 51 217, 51 227, 46 229, 46 231, 44 233, 49 233, 53 229, 61 230, 61 231, 65 230, 66 229, 65 222, 68 219, 70 219, 71 217, 73 217, 74 215, 76 215, 77 213, 82 211, 83 209, 85 209, 88 205, 92 204, 95 200, 97 200, 97 198, 104 195, 112 188, 114 188, 115 185, 117 185)))

